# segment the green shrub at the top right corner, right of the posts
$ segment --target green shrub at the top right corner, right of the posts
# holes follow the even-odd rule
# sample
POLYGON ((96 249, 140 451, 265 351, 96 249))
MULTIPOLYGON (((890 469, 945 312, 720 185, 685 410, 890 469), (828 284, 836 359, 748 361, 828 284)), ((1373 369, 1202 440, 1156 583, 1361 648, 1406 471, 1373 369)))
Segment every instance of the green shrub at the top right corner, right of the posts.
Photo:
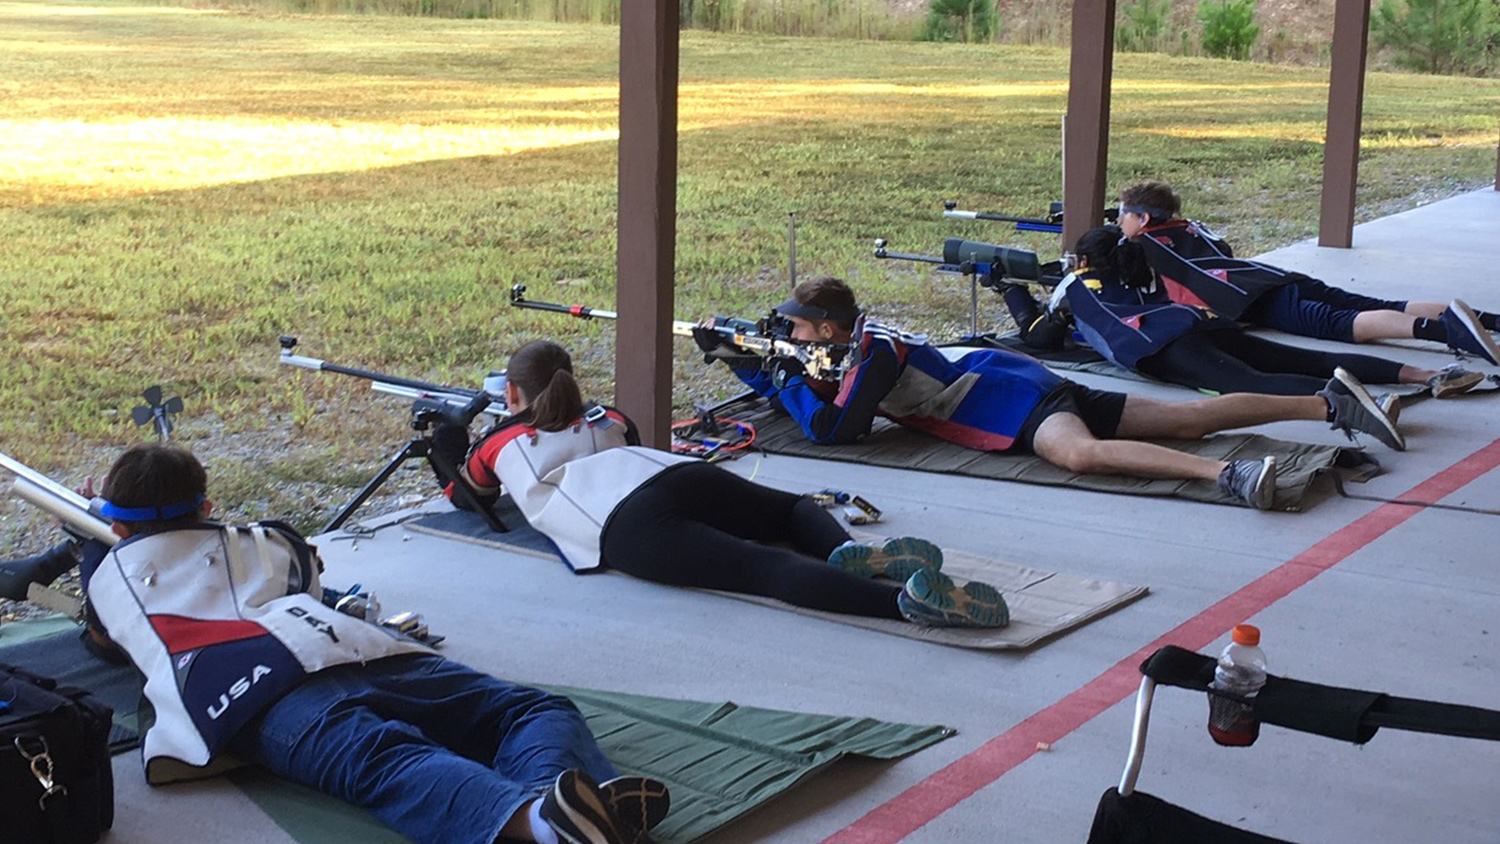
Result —
POLYGON ((1500 42, 1500 13, 1490 0, 1380 0, 1370 33, 1394 61, 1428 73, 1485 73, 1500 42))

